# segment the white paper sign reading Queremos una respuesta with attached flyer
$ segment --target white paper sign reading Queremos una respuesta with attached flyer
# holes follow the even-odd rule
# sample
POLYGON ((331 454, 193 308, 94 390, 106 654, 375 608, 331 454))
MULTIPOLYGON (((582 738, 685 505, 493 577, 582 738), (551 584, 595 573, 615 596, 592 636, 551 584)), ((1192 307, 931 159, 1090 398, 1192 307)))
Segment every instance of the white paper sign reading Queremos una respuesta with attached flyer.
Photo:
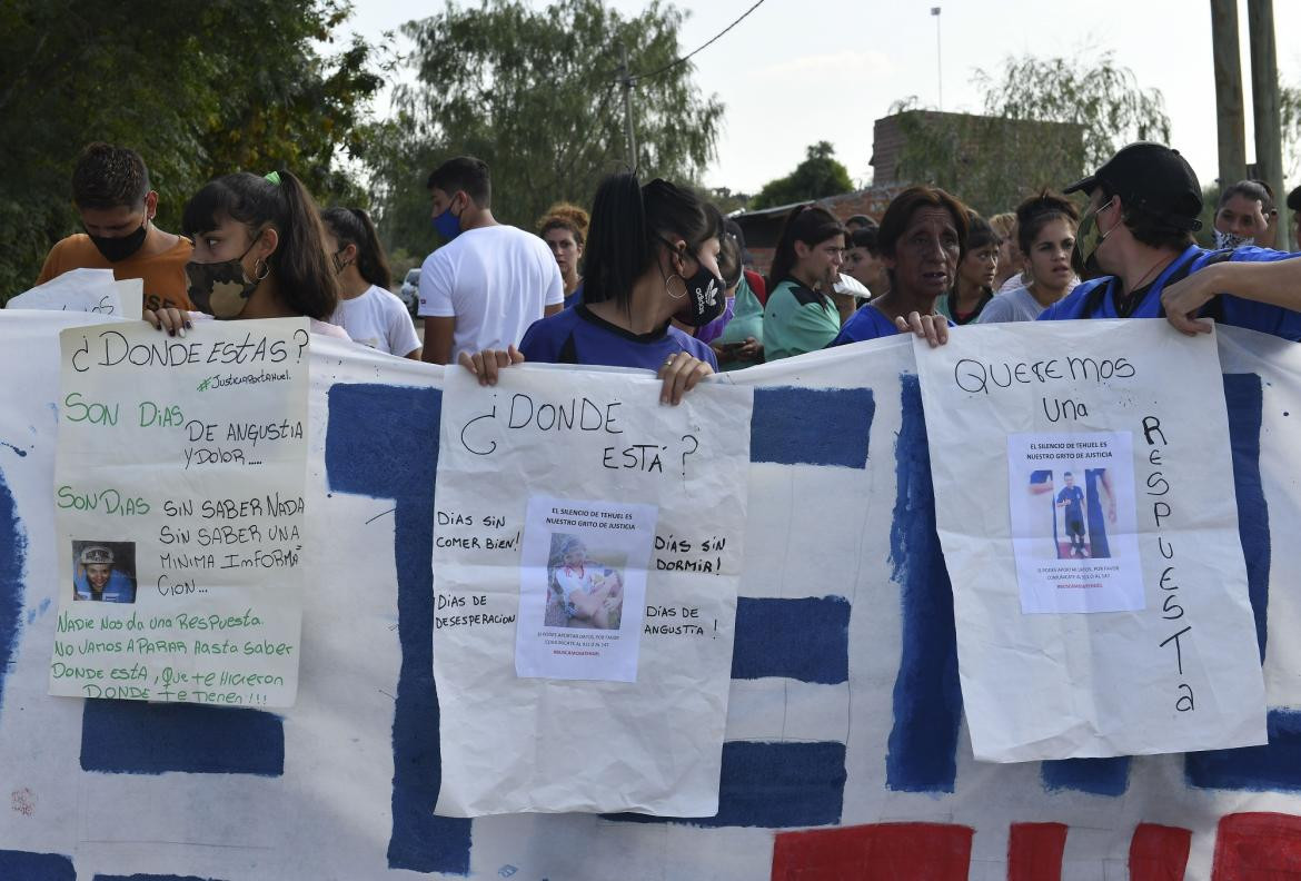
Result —
POLYGON ((1214 337, 973 331, 916 357, 976 757, 1265 743, 1214 337))

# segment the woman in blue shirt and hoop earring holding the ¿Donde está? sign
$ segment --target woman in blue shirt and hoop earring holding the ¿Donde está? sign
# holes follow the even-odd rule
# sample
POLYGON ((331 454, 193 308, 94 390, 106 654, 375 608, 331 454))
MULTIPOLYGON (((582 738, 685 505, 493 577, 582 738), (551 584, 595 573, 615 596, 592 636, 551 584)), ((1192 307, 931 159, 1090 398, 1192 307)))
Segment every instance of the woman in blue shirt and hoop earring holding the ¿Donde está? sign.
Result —
POLYGON ((718 363, 708 345, 670 324, 701 327, 727 306, 718 272, 722 216, 692 193, 632 174, 596 193, 584 252, 583 302, 535 321, 516 350, 462 354, 483 385, 523 360, 644 367, 664 380, 660 400, 679 403, 718 363))

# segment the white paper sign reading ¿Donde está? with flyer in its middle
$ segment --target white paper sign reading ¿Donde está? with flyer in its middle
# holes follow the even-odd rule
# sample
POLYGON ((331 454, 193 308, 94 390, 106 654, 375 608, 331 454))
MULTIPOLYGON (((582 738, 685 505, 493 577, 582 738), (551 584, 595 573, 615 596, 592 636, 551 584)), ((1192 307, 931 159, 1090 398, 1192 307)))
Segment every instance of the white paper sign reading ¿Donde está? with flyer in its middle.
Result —
POLYGON ((752 390, 449 371, 435 526, 437 812, 713 816, 752 390))

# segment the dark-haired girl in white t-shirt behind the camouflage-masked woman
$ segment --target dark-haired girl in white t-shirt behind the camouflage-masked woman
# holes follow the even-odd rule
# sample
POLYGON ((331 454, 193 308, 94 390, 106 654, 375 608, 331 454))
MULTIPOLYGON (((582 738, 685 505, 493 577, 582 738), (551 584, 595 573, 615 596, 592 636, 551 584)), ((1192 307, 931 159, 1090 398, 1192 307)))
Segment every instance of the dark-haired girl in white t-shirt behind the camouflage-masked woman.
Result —
POLYGON ((321 221, 340 286, 330 324, 347 331, 353 342, 420 360, 420 338, 406 306, 389 290, 393 277, 371 217, 360 208, 329 208, 321 221))

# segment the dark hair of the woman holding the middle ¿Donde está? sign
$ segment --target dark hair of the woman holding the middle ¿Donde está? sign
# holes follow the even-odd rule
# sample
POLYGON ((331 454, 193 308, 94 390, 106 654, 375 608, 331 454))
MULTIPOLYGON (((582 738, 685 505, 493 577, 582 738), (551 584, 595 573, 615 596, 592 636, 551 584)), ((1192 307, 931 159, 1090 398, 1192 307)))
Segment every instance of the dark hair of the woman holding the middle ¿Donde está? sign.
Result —
POLYGON ((665 239, 682 238, 691 254, 722 233, 722 216, 695 193, 656 178, 641 186, 636 174, 601 181, 592 203, 584 251, 583 301, 613 299, 632 307, 632 285, 654 263, 665 239))

